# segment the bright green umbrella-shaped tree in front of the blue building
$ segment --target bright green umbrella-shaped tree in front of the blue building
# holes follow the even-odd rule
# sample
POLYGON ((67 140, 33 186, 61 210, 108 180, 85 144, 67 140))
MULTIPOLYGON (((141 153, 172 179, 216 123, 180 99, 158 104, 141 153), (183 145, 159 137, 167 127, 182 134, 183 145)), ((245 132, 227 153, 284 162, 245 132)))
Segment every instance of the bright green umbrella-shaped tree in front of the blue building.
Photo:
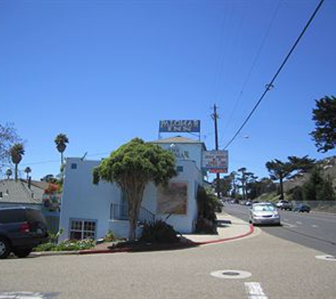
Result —
POLYGON ((129 240, 134 241, 146 185, 150 181, 156 186, 168 184, 168 180, 175 175, 175 157, 171 152, 134 138, 95 167, 93 183, 98 184, 103 180, 120 186, 128 201, 129 240))

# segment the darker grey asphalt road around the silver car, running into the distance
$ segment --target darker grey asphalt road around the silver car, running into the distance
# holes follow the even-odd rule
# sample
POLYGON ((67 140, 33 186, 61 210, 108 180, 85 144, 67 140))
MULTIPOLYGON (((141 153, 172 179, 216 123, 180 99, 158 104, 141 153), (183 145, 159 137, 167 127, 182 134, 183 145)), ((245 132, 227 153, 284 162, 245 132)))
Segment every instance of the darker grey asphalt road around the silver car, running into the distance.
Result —
MULTIPOLYGON (((248 221, 248 207, 226 204, 224 211, 248 221)), ((336 215, 280 211, 281 227, 260 226, 265 232, 336 256, 336 215)))

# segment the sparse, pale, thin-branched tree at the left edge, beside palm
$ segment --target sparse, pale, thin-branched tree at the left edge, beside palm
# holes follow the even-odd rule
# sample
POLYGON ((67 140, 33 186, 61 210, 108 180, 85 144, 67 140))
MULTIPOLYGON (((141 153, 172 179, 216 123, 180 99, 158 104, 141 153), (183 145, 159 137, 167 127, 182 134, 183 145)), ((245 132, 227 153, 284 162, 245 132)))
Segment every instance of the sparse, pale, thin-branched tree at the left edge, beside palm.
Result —
POLYGON ((20 142, 20 138, 13 125, 10 123, 1 125, 0 123, 0 172, 3 167, 8 167, 10 164, 11 147, 16 142, 20 142))

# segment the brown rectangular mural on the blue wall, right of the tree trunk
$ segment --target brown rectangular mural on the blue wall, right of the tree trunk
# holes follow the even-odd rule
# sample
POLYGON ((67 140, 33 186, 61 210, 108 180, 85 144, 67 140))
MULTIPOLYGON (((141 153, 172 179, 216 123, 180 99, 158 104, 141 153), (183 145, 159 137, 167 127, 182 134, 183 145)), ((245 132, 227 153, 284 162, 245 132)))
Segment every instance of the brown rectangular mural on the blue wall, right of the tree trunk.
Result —
POLYGON ((186 182, 170 182, 158 188, 158 214, 187 215, 186 182))

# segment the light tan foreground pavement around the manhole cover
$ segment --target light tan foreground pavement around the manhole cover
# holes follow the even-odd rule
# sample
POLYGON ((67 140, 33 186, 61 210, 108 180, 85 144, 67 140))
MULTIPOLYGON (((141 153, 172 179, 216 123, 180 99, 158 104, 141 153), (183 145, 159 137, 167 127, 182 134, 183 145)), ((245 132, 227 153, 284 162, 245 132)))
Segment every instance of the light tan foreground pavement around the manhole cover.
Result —
POLYGON ((0 261, 0 298, 23 298, 8 292, 33 292, 33 298, 336 298, 336 261, 316 259, 324 252, 270 233, 285 228, 256 228, 250 237, 193 249, 6 259, 0 261), (214 271, 250 277, 224 279, 214 271))

